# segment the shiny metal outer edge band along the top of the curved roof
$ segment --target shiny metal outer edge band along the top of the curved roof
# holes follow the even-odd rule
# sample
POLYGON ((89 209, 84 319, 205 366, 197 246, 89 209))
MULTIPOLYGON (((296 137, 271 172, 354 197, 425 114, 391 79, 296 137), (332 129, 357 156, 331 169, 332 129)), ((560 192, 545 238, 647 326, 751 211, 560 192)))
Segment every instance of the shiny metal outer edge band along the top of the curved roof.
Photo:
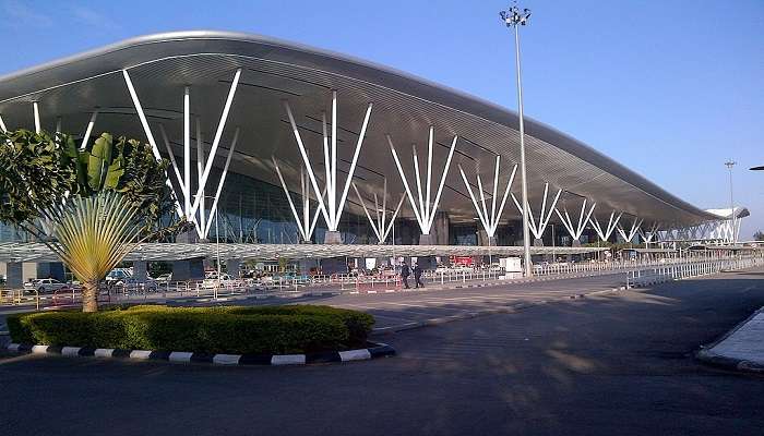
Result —
MULTIPOLYGON (((44 88, 65 85, 155 60, 152 50, 141 47, 157 44, 196 41, 199 49, 213 52, 215 41, 240 41, 273 46, 303 55, 306 59, 323 62, 327 71, 350 73, 357 78, 373 81, 380 86, 446 106, 497 124, 517 130, 517 113, 494 102, 464 92, 355 57, 323 50, 302 44, 256 34, 219 31, 183 31, 139 36, 79 55, 0 76, 0 102, 28 97, 44 88)), ((188 50, 188 48, 186 48, 188 50)), ((568 152, 608 172, 659 202, 697 217, 697 221, 716 217, 670 194, 640 173, 626 168, 590 146, 552 126, 525 117, 526 134, 568 152)), ((563 187, 563 186, 560 186, 563 187)))

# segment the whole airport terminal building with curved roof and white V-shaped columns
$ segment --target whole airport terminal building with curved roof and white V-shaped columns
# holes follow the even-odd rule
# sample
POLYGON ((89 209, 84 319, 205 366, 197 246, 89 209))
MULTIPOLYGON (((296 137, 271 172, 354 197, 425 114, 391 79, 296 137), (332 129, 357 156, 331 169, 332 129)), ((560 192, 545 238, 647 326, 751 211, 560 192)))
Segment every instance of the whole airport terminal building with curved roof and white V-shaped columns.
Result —
MULTIPOLYGON (((239 33, 143 36, 0 77, 0 129, 82 144, 100 132, 139 138, 170 159, 177 213, 195 231, 135 261, 210 256, 215 240, 229 259, 522 245, 517 113, 335 52, 239 33)), ((731 243, 748 215, 702 210, 538 121, 526 119, 525 144, 537 254, 731 243)), ((53 261, 0 228, 1 263, 53 261)))

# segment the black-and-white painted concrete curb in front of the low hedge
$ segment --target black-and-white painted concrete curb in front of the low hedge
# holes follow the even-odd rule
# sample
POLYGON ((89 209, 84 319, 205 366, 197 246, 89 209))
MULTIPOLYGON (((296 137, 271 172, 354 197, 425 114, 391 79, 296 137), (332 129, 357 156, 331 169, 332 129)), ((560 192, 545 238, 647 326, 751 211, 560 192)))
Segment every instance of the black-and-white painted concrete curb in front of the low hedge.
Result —
POLYGON ((311 354, 207 354, 183 351, 93 349, 83 347, 32 346, 9 343, 13 353, 57 354, 68 358, 122 359, 131 361, 163 361, 172 363, 211 363, 213 365, 306 365, 312 363, 351 362, 395 355, 395 349, 386 343, 369 342, 371 347, 327 351, 311 354))

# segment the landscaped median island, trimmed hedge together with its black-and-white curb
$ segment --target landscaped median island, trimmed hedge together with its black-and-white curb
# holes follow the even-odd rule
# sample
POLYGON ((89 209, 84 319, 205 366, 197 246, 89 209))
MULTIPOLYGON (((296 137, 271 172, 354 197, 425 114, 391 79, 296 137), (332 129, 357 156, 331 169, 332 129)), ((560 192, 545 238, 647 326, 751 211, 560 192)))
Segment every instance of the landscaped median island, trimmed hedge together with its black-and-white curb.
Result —
POLYGON ((346 361, 391 355, 367 342, 374 318, 329 306, 140 305, 8 317, 15 351, 227 364, 346 361))

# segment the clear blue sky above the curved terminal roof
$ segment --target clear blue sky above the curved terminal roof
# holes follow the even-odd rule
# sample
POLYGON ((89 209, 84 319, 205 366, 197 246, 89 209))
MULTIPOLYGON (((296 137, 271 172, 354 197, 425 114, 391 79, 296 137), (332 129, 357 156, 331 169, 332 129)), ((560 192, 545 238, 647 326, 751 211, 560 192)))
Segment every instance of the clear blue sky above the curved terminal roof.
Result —
MULTIPOLYGON (((0 74, 141 34, 227 29, 387 64, 515 108, 510 33, 481 1, 0 0, 0 74)), ((764 1, 526 0, 525 109, 700 206, 764 229, 764 1)))

